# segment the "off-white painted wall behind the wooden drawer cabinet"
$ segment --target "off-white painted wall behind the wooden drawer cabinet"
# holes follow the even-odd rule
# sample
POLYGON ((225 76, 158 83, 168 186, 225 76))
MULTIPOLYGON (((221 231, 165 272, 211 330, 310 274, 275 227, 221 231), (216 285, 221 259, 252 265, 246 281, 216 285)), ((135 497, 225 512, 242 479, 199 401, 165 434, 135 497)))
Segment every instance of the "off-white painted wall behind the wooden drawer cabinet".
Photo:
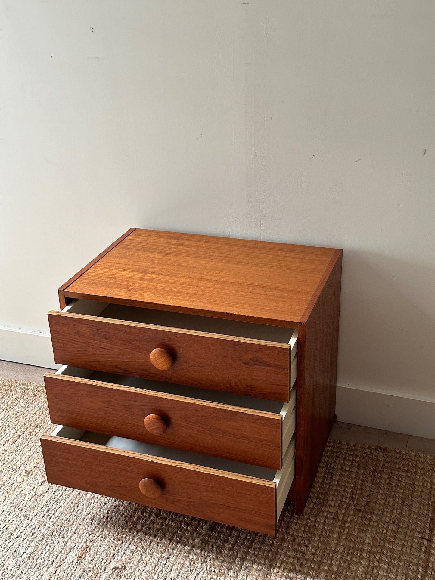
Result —
POLYGON ((435 401, 432 0, 0 7, 0 324, 131 226, 339 247, 339 384, 435 401))

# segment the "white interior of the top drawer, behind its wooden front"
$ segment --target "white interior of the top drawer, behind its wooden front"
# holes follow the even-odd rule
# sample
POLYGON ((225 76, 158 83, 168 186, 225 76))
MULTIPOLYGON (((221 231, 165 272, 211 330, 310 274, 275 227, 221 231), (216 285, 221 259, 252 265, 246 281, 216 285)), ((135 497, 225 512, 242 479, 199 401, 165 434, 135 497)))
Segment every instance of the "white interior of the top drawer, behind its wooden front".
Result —
POLYGON ((70 302, 62 312, 71 314, 88 314, 103 318, 115 318, 143 324, 154 324, 168 328, 180 328, 198 332, 210 332, 225 336, 238 336, 255 340, 266 340, 289 344, 291 358, 296 354, 298 330, 294 328, 282 328, 267 324, 254 324, 253 322, 240 322, 238 320, 224 320, 208 316, 196 316, 195 314, 182 314, 166 310, 154 310, 139 308, 136 306, 124 306, 96 302, 95 300, 76 299, 70 302))

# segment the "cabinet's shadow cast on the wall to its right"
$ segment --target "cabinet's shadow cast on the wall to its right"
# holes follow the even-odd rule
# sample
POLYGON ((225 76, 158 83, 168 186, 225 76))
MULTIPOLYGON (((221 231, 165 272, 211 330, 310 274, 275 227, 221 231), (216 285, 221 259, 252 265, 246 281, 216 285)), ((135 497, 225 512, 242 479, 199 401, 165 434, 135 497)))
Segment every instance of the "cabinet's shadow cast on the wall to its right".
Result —
POLYGON ((343 252, 340 385, 435 400, 434 288, 435 271, 425 266, 343 252))

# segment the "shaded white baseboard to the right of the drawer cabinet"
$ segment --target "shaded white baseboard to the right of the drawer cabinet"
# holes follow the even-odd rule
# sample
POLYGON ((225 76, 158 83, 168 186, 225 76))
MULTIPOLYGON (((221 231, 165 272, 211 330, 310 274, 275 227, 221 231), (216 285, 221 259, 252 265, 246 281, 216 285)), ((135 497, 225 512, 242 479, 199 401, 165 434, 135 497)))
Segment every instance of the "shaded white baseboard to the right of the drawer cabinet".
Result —
POLYGON ((435 439, 435 401, 337 386, 337 420, 435 439))

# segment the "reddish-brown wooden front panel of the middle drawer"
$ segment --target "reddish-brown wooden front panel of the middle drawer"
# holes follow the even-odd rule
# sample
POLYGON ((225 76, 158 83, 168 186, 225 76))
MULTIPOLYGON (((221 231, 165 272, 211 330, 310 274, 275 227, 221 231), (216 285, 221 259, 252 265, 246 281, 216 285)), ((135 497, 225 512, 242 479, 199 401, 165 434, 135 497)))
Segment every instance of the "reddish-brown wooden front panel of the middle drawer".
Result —
POLYGON ((48 373, 44 380, 50 419, 57 425, 281 469, 279 413, 74 376, 48 373), (144 419, 150 415, 163 419, 163 433, 146 429, 144 419))

